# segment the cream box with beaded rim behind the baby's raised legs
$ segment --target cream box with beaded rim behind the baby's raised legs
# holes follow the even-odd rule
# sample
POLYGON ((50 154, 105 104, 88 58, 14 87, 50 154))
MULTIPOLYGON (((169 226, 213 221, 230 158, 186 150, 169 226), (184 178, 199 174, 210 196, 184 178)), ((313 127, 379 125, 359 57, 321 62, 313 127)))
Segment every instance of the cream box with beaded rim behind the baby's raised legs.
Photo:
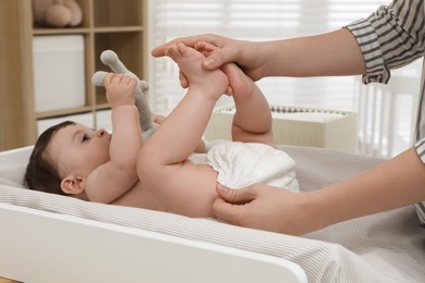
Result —
MULTIPOLYGON (((234 110, 233 104, 217 107, 205 131, 205 139, 231 139, 234 110)), ((355 112, 287 106, 271 106, 270 110, 275 140, 279 145, 356 151, 355 112)))

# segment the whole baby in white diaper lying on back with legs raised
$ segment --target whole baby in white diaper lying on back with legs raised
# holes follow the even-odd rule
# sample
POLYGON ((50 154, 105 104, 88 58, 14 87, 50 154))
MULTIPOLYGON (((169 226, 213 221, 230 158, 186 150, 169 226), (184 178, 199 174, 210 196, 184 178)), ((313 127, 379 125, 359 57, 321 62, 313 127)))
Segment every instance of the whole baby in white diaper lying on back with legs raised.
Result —
POLYGON ((189 217, 212 217, 217 182, 230 187, 265 182, 296 190, 294 162, 274 148, 270 109, 256 84, 233 63, 204 70, 204 54, 181 44, 170 46, 167 54, 178 63, 190 87, 146 143, 134 106, 135 79, 109 74, 105 87, 112 135, 73 122, 47 130, 27 167, 28 186, 189 217), (236 108, 233 143, 212 147, 195 163, 193 152, 224 93, 233 97, 236 108))

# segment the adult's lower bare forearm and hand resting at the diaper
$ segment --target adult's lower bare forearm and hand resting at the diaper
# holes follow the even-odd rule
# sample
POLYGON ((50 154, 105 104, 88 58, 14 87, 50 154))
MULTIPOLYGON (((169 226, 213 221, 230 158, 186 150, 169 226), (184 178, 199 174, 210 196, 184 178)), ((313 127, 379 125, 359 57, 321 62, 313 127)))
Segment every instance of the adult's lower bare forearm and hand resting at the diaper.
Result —
POLYGON ((256 184, 218 187, 212 213, 236 225, 301 235, 425 200, 425 164, 414 148, 359 176, 311 193, 256 184))

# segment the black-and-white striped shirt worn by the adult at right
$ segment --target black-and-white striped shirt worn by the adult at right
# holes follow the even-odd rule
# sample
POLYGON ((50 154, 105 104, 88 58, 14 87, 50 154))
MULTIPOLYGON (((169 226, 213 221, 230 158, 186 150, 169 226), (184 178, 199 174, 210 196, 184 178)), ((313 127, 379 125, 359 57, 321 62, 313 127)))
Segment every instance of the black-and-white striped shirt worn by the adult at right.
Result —
MULTIPOLYGON (((347 26, 356 38, 366 63, 363 83, 386 84, 390 79, 391 69, 406 65, 424 56, 424 0, 394 0, 389 5, 380 7, 367 19, 347 26)), ((425 65, 421 79, 415 149, 425 163, 424 70, 425 65)), ((415 205, 415 208, 421 224, 425 226, 425 201, 415 205)))

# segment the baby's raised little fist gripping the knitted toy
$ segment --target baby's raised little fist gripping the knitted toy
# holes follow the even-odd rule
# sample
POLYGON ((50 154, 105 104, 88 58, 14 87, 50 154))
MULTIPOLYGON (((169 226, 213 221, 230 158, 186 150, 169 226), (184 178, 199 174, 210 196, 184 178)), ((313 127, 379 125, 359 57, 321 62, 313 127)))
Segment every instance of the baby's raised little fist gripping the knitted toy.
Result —
POLYGON ((124 74, 109 73, 104 83, 111 108, 135 104, 136 78, 124 74))

